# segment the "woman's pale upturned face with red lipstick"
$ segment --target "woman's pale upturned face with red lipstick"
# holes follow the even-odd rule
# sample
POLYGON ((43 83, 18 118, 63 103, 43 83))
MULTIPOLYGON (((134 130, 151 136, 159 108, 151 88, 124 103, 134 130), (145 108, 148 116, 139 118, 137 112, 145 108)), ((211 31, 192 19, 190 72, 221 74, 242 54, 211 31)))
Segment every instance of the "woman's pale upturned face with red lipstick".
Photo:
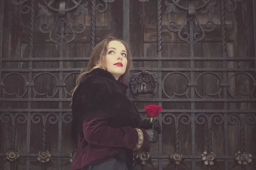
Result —
POLYGON ((125 45, 119 41, 108 43, 105 66, 116 80, 125 73, 127 67, 127 51, 125 45))

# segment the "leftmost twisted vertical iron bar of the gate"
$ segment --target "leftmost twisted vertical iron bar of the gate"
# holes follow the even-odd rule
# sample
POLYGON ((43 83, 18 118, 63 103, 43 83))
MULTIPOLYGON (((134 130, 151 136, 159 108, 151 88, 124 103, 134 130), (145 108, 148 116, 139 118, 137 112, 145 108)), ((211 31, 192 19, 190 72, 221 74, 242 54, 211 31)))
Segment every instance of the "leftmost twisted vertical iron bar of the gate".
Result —
MULTIPOLYGON (((30 0, 30 22, 29 22, 29 69, 32 69, 33 61, 30 60, 33 57, 34 47, 34 23, 35 23, 35 0, 30 0)), ((32 83, 32 71, 29 71, 28 82, 32 83)), ((28 86, 28 98, 32 98, 32 86, 28 86)), ((31 101, 28 101, 28 109, 31 109, 31 101)), ((26 141, 26 169, 30 169, 30 135, 31 135, 31 112, 28 112, 27 116, 27 141, 26 141)))

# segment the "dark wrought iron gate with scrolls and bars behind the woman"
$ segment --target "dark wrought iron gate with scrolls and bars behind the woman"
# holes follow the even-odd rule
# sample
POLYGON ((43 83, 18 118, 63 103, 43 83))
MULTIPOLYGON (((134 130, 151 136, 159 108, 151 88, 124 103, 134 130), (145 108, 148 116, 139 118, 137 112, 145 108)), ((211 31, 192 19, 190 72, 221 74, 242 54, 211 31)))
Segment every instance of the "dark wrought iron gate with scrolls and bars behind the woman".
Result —
MULTIPOLYGON (((116 0, 118 1, 118 0, 116 0)), ((120 0, 119 0, 120 1, 120 0)), ((134 0, 135 1, 135 0, 134 0)), ((243 102, 256 104, 256 34, 254 34, 254 50, 255 57, 228 57, 227 56, 227 31, 226 31, 226 15, 227 12, 231 13, 236 10, 243 0, 136 0, 140 3, 151 3, 155 2, 155 10, 157 11, 157 56, 155 57, 134 57, 134 61, 157 61, 157 67, 136 67, 132 69, 131 75, 126 77, 127 83, 130 83, 131 89, 128 95, 134 102, 157 102, 158 105, 163 105, 164 102, 186 102, 190 104, 189 109, 165 109, 159 116, 159 119, 163 125, 174 124, 175 134, 175 152, 170 155, 163 154, 163 135, 159 136, 158 142, 158 153, 151 154, 150 158, 147 158, 148 153, 141 153, 138 156, 140 164, 154 164, 154 161, 158 160, 157 169, 163 170, 163 161, 168 160, 168 164, 174 164, 175 170, 182 169, 187 166, 188 169, 195 170, 197 165, 196 162, 202 162, 202 167, 208 167, 212 170, 212 167, 216 166, 221 168, 218 162, 223 161, 224 165, 222 170, 230 169, 230 161, 235 159, 235 165, 241 165, 241 170, 246 168, 252 168, 248 164, 251 164, 252 160, 256 159, 255 156, 250 154, 251 150, 246 150, 245 147, 245 125, 254 125, 256 122, 256 109, 252 107, 246 108, 245 110, 230 109, 229 103, 231 102, 243 102), (175 32, 180 40, 186 42, 189 45, 189 56, 188 57, 167 57, 162 55, 163 38, 162 38, 162 16, 164 15, 162 10, 165 9, 167 14, 181 15, 184 14, 183 23, 179 24, 176 21, 170 21, 168 30, 175 32), (221 56, 217 57, 197 57, 195 55, 195 45, 197 42, 205 38, 205 34, 215 30, 215 22, 207 21, 203 26, 198 18, 198 13, 203 14, 216 14, 220 9, 219 22, 221 25, 221 56), (166 61, 187 61, 189 62, 188 68, 163 68, 162 65, 166 61), (207 61, 214 62, 218 61, 222 63, 220 68, 197 68, 195 67, 196 62, 207 61), (254 63, 253 68, 229 68, 228 62, 230 61, 244 61, 254 63), (189 75, 186 75, 188 72, 189 75), (167 73, 167 74, 166 74, 167 73), (197 74, 200 73, 200 74, 197 74), (219 76, 221 73, 222 76, 219 76), (232 73, 229 75, 229 73, 232 73), (173 93, 173 96, 169 95, 164 85, 167 77, 172 74, 179 74, 185 77, 187 81, 187 89, 182 94, 173 93), (198 79, 200 77, 211 74, 218 78, 219 89, 215 94, 206 93, 202 95, 198 92, 198 79), (251 79, 252 89, 248 94, 239 94, 234 96, 230 92, 230 80, 239 74, 247 75, 251 79), (177 96, 185 96, 179 98, 177 96), (217 98, 209 98, 209 96, 218 96, 217 98), (249 96, 248 98, 242 98, 241 96, 249 96), (221 102, 223 105, 222 109, 198 109, 196 103, 200 102, 221 102), (174 122, 172 122, 174 121, 174 122), (212 123, 213 122, 213 123, 212 123), (198 155, 195 151, 196 144, 196 131, 197 125, 207 124, 207 142, 205 143, 206 150, 198 155), (190 127, 189 132, 191 154, 183 155, 180 150, 180 125, 186 125, 190 127), (214 125, 223 126, 224 134, 224 154, 215 154, 212 150, 212 128, 214 125), (239 140, 240 140, 240 151, 237 150, 235 155, 231 155, 229 152, 228 134, 229 126, 239 125, 239 140), (144 155, 143 155, 144 154, 144 155), (218 160, 218 161, 217 161, 218 160), (152 162, 151 162, 152 161, 152 162), (188 165, 191 164, 191 165, 188 165), (183 167, 182 167, 183 166, 183 167)), ((5 18, 5 4, 7 0, 0 0, 0 125, 5 131, 8 131, 11 138, 5 144, 9 146, 7 149, 3 144, 1 148, 0 157, 0 168, 15 169, 15 164, 21 168, 29 170, 32 166, 31 160, 33 158, 38 159, 41 162, 42 170, 47 169, 47 162, 52 159, 56 159, 57 164, 54 165, 56 169, 65 169, 64 158, 68 158, 69 162, 75 159, 75 153, 63 153, 63 124, 70 124, 72 116, 70 109, 64 107, 64 102, 70 101, 70 92, 67 90, 67 79, 74 74, 78 74, 81 68, 65 68, 64 62, 71 61, 87 61, 86 57, 70 57, 65 55, 66 45, 70 42, 75 41, 79 34, 86 31, 84 23, 77 25, 73 24, 73 20, 70 14, 75 15, 90 15, 90 48, 96 44, 96 15, 98 13, 104 13, 108 10, 110 3, 115 3, 115 0, 41 0, 40 3, 35 3, 35 0, 11 0, 12 5, 17 7, 20 14, 29 16, 29 40, 28 40, 28 57, 6 57, 3 56, 4 47, 4 18, 5 18), (67 1, 67 2, 66 2, 67 1), (38 7, 38 11, 35 11, 38 7), (88 12, 90 8, 90 14, 88 12), (39 28, 40 34, 47 34, 49 40, 58 45, 58 57, 37 57, 34 54, 34 39, 35 34, 35 17, 55 16, 55 21, 52 25, 49 23, 41 24, 39 28), (67 31, 68 30, 68 31, 67 31), (27 68, 6 68, 4 64, 7 62, 27 63, 27 68), (58 62, 58 68, 35 68, 33 63, 35 62, 58 62), (57 74, 56 74, 57 73, 57 74), (67 74, 65 74, 67 73, 67 74), (55 80, 55 90, 52 94, 40 93, 35 88, 35 81, 41 75, 50 75, 55 80), (9 77, 17 75, 24 82, 24 93, 9 92, 6 90, 6 81, 9 77), (41 97, 47 95, 47 97, 41 97), (7 102, 23 102, 26 107, 24 108, 6 108, 7 102), (33 102, 57 102, 56 108, 33 108, 33 102), (32 126, 39 125, 42 123, 42 139, 38 139, 38 142, 42 142, 41 150, 38 153, 32 152, 31 145, 31 130, 32 126), (47 149, 47 125, 57 125, 58 128, 58 148, 55 153, 51 153, 47 149), (26 146, 25 151, 21 152, 20 149, 16 148, 18 140, 16 140, 17 129, 21 125, 26 126, 26 146), (4 159, 4 160, 3 160, 4 159), (23 161, 20 161, 22 159, 23 161), (6 164, 2 164, 6 160, 6 164)), ((123 29, 122 37, 128 42, 130 41, 130 6, 131 0, 122 0, 122 15, 123 15, 123 29)), ((256 3, 253 3, 253 23, 254 33, 256 33, 256 3)), ((253 24, 251 24, 252 26, 253 24)), ((38 33, 39 34, 39 33, 38 33)), ((15 48, 15 47, 12 47, 15 48)), ((21 81, 21 80, 19 80, 21 81)), ((15 82, 12 80, 12 82, 15 82)), ((72 82, 71 82, 72 83, 72 82)), ((73 82, 74 83, 74 82, 73 82)), ((7 83, 8 84, 8 83, 7 83)), ((140 110, 143 112, 143 110, 140 110)), ((1 132, 3 132, 3 130, 1 132)), ((49 132, 48 132, 49 133, 49 132)), ((7 134, 7 133, 6 133, 7 134)), ((1 135, 1 142, 4 141, 6 136, 1 135), (2 137, 3 136, 3 137, 2 137)), ((252 151, 255 153, 255 151, 252 151)), ((169 166, 171 169, 173 167, 169 166)), ((138 168, 138 167, 137 167, 138 168)), ((148 168, 151 168, 148 165, 148 168)), ((255 167, 254 167, 255 168, 255 167)), ((5 169, 4 169, 5 170, 5 169)))

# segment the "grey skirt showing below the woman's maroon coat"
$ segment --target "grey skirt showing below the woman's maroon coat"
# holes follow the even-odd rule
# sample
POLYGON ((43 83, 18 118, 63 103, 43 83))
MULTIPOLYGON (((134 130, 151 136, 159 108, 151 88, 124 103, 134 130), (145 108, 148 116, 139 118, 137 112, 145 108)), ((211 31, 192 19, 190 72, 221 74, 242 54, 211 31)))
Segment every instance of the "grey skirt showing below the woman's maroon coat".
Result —
POLYGON ((125 154, 121 153, 100 164, 89 165, 81 170, 133 170, 133 166, 125 159, 125 154))

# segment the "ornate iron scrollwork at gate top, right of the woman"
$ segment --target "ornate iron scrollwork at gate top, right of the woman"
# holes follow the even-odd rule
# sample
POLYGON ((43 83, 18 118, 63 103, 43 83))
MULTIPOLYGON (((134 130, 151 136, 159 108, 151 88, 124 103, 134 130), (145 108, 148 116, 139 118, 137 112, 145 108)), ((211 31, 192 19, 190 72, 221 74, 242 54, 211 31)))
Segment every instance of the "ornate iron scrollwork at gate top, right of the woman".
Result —
POLYGON ((216 0, 201 0, 197 2, 198 3, 196 4, 194 1, 189 0, 171 0, 171 2, 169 2, 168 0, 165 1, 165 5, 167 7, 167 14, 180 14, 180 10, 186 11, 183 23, 179 28, 177 28, 178 24, 176 21, 170 21, 167 28, 171 32, 178 32, 178 37, 180 38, 180 40, 187 42, 189 45, 195 45, 196 42, 203 40, 205 32, 213 31, 216 26, 212 20, 207 21, 203 26, 199 22, 196 13, 197 11, 201 10, 203 14, 216 14, 216 0), (195 24, 195 22, 197 24, 195 24), (198 25, 199 29, 201 30, 201 36, 200 33, 196 30, 190 29, 191 27, 194 27, 194 25, 198 25), (186 30, 189 30, 189 32, 187 32, 186 30))

